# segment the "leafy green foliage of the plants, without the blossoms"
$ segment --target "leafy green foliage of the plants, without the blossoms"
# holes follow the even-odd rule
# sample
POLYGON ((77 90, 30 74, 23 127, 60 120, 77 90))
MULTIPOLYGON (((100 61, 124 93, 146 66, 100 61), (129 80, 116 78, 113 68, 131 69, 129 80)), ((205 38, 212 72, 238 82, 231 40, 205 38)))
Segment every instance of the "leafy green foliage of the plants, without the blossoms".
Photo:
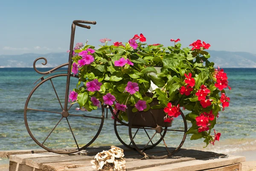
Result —
MULTIPOLYGON (((116 102, 119 104, 133 107, 132 112, 138 111, 134 107, 138 100, 146 102, 144 111, 163 109, 169 102, 172 102, 175 107, 179 104, 180 107, 185 107, 190 111, 186 115, 186 120, 192 123, 192 127, 189 128, 187 134, 192 134, 192 140, 204 138, 207 146, 209 141, 212 141, 210 132, 216 124, 218 112, 221 111, 220 93, 225 93, 225 91, 220 91, 215 87, 214 63, 208 61, 210 55, 204 47, 194 50, 188 47, 180 49, 180 47, 180 43, 168 47, 138 43, 137 49, 133 49, 129 43, 126 43, 125 46, 108 46, 106 44, 99 49, 86 45, 82 49, 75 50, 76 53, 88 48, 95 50, 93 54, 89 53, 93 56, 94 61, 79 68, 79 82, 74 89, 78 93, 78 104, 88 111, 96 110, 97 107, 93 106, 90 101, 91 97, 94 96, 103 103, 103 96, 107 93, 115 96, 116 102), (131 61, 133 65, 115 66, 115 62, 121 58, 131 61), (161 70, 157 72, 156 67, 159 66, 161 70), (185 73, 187 75, 190 73, 191 79, 195 79, 195 86, 187 96, 185 93, 181 93, 181 89, 183 90, 189 85, 186 83, 188 79, 185 77, 185 73), (98 79, 102 85, 99 91, 90 92, 87 90, 86 83, 95 79, 98 79), (133 94, 128 93, 125 88, 129 81, 137 83, 139 91, 133 94), (202 107, 198 96, 195 95, 202 85, 207 86, 210 90, 206 99, 213 100, 211 105, 205 108, 202 107), (153 86, 158 88, 151 90, 153 86), (152 92, 150 95, 147 93, 148 90, 152 92), (151 102, 155 99, 159 103, 152 106, 151 102), (195 119, 201 114, 210 112, 214 115, 214 120, 209 121, 209 131, 198 133, 199 126, 195 119)), ((73 63, 77 64, 81 56, 75 55, 72 59, 73 63)), ((128 121, 126 112, 120 112, 119 118, 128 121)))

